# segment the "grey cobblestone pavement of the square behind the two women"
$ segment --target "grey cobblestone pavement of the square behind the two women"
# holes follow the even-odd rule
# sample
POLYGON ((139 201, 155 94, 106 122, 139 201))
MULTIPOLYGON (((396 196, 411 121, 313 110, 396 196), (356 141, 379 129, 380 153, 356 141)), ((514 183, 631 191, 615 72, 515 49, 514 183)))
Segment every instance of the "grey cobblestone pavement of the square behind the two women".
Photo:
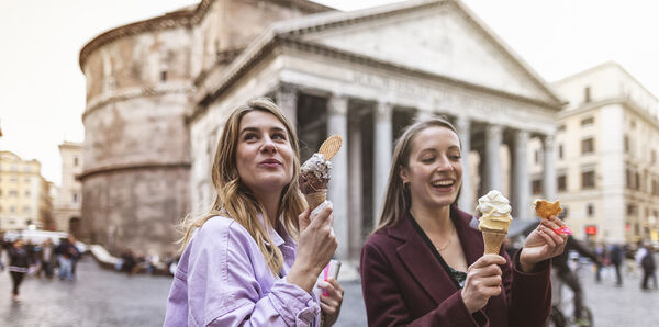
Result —
MULTIPOLYGON (((11 301, 7 270, 0 274, 0 326, 161 326, 170 279, 116 273, 100 269, 91 258, 78 266, 75 282, 27 278, 21 301, 11 301)), ((640 272, 626 273, 614 285, 611 271, 595 283, 590 266, 580 275, 585 303, 595 326, 656 326, 659 291, 640 291, 640 272)), ((359 281, 342 282, 346 297, 335 326, 366 326, 359 281)), ((569 296, 569 292, 565 292, 569 296)))

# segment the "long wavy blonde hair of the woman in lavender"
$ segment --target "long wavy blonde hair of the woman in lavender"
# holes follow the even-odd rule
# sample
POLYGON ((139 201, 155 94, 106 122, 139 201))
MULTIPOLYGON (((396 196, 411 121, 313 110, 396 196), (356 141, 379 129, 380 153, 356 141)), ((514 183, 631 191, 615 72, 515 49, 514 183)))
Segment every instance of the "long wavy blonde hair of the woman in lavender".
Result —
POLYGON ((252 237, 254 237, 264 258, 266 258, 266 262, 272 273, 278 274, 283 266, 283 256, 278 247, 267 246, 267 244, 273 244, 267 230, 276 226, 270 226, 270 219, 266 217, 263 219, 265 226, 260 224, 258 215, 259 213, 265 213, 265 210, 249 188, 241 180, 236 166, 236 148, 241 132, 241 120, 252 111, 263 111, 275 115, 286 126, 289 135, 289 142, 293 149, 293 177, 281 192, 277 217, 280 218, 281 227, 289 235, 292 237, 298 236, 298 215, 304 211, 305 206, 298 184, 298 177, 300 174, 298 136, 293 133, 290 121, 271 100, 257 98, 248 101, 245 105, 236 108, 228 116, 222 131, 222 136, 217 142, 211 171, 211 179, 217 195, 209 213, 197 218, 186 217, 183 219, 181 223, 183 237, 180 239, 180 243, 182 244, 182 248, 185 248, 192 237, 192 232, 201 227, 213 216, 227 216, 247 229, 252 237))

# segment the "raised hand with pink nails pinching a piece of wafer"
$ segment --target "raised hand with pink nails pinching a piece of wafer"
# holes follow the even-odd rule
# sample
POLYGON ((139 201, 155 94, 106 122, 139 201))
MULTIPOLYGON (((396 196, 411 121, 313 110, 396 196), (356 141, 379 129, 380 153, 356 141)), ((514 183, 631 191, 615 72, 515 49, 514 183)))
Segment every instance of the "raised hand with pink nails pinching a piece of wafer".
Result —
POLYGON ((568 235, 556 234, 554 230, 563 226, 566 224, 556 216, 540 222, 538 227, 528 235, 520 252, 522 270, 530 272, 536 263, 562 253, 568 235))

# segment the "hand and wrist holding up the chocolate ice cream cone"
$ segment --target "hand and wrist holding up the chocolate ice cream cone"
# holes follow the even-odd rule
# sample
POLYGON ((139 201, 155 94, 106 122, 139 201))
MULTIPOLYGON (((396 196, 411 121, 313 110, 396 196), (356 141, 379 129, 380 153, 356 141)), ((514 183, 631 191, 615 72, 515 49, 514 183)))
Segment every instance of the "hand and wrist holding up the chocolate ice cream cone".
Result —
POLYGON ((317 214, 314 212, 313 217, 310 218, 310 210, 305 210, 299 217, 298 255, 287 281, 306 292, 311 292, 319 274, 338 247, 332 230, 332 203, 325 202, 324 207, 317 214))

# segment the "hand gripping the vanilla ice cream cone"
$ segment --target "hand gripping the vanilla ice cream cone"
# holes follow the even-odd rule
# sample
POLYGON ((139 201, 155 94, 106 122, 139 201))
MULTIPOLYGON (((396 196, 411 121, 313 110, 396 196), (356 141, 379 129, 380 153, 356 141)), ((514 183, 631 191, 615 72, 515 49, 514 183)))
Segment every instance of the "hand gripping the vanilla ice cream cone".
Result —
POLYGON ((501 294, 502 271, 498 264, 505 264, 505 259, 496 255, 484 255, 467 269, 467 280, 461 292, 470 314, 483 308, 490 297, 501 294))

